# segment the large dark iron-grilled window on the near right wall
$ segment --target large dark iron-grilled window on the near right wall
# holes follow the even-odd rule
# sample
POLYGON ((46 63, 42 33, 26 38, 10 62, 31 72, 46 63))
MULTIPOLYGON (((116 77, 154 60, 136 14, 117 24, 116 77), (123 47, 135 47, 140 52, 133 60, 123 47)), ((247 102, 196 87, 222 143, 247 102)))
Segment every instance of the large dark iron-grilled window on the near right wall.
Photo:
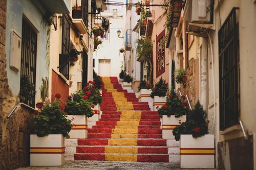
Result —
POLYGON ((219 31, 220 130, 238 124, 239 30, 233 8, 219 31))

